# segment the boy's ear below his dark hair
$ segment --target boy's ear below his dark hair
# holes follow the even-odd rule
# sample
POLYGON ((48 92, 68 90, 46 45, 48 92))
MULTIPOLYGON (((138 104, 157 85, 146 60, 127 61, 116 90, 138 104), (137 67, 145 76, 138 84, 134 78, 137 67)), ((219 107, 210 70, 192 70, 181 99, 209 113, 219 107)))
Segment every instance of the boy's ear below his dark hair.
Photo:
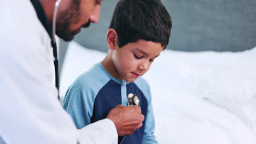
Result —
POLYGON ((115 29, 108 29, 107 33, 107 43, 110 50, 115 49, 115 45, 117 45, 118 42, 118 33, 115 31, 115 29))

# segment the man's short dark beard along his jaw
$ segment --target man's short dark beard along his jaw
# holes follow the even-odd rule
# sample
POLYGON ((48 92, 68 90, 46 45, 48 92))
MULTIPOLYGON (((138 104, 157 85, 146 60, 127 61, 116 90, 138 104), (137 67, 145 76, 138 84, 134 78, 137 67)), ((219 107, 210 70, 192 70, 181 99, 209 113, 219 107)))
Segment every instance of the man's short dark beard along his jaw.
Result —
POLYGON ((65 41, 71 41, 74 39, 75 34, 79 29, 71 31, 71 25, 78 23, 80 20, 79 13, 80 0, 73 0, 71 7, 60 13, 56 21, 56 35, 65 41))

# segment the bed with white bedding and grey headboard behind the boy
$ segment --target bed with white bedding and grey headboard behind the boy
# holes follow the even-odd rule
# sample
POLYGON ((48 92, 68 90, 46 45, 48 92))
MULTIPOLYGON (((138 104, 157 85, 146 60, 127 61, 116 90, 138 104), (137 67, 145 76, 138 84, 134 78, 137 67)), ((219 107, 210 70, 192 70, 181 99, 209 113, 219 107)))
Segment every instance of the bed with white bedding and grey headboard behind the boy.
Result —
MULTIPOLYGON (((143 76, 152 91, 157 140, 255 144, 256 1, 162 2, 173 21, 170 45, 143 76)), ((99 23, 61 42, 62 98, 106 55, 115 3, 103 1, 99 23)))

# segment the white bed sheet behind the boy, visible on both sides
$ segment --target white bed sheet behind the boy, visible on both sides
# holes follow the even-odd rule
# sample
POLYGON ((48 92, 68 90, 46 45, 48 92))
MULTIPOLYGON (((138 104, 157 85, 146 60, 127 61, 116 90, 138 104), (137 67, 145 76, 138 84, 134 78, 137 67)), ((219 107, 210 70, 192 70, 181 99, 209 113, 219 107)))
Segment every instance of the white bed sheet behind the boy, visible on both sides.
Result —
MULTIPOLYGON (((60 95, 106 53, 69 44, 60 95)), ((256 140, 256 47, 245 52, 165 50, 143 77, 152 90, 159 143, 256 140)))

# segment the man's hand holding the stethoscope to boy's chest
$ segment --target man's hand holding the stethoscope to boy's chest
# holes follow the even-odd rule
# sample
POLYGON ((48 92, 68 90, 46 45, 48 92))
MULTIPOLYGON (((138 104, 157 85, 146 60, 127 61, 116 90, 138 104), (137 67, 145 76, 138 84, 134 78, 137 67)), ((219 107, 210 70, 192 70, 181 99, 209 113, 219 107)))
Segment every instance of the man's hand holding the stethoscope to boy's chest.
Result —
POLYGON ((117 105, 109 111, 107 118, 114 122, 119 136, 133 134, 136 129, 142 127, 142 122, 144 121, 141 107, 138 105, 117 105))

